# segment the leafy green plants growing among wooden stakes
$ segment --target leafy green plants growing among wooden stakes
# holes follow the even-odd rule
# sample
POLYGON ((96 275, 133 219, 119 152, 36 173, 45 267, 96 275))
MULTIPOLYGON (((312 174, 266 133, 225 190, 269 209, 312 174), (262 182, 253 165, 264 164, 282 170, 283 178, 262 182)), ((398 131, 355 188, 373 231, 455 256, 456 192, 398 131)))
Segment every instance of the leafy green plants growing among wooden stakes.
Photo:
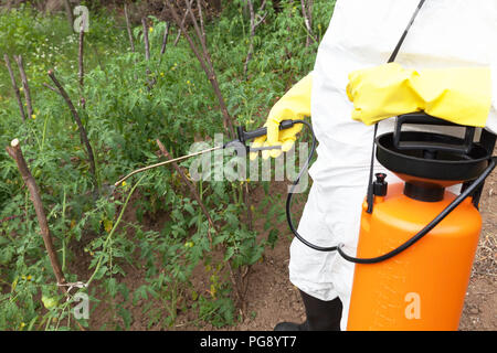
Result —
MULTIPOLYGON (((277 97, 313 67, 317 43, 305 46, 299 4, 282 3, 281 12, 267 7, 266 20, 253 38, 246 76, 250 21, 242 1, 228 3, 219 19, 205 23, 228 109, 247 129, 261 126, 277 97)), ((316 1, 314 32, 319 38, 331 11, 329 1, 316 1)), ((156 138, 178 157, 194 140, 211 140, 224 130, 218 99, 188 43, 181 40, 173 46, 170 41, 161 55, 166 24, 155 17, 149 21, 151 55, 146 61, 141 26, 134 30, 137 50, 130 53, 125 31, 117 28, 123 20, 92 12, 85 85, 80 92, 77 34, 70 33, 66 19, 45 17, 29 6, 1 13, 0 52, 23 54, 34 117, 21 124, 1 67, 0 145, 14 137, 25 140, 23 152, 43 195, 66 280, 88 284, 78 290, 89 293, 92 313, 99 310, 108 318, 97 329, 133 328, 136 307, 148 315, 148 328, 172 328, 187 311, 195 312, 197 325, 233 324, 248 268, 282 235, 277 225, 285 215, 275 206, 281 196, 268 193, 269 183, 197 182, 215 228, 172 169, 151 170, 139 181, 131 179, 116 190, 110 186, 128 171, 159 161, 156 138), (70 111, 57 94, 43 86, 50 83, 46 71, 53 67, 70 96, 83 94, 86 99, 85 109, 76 108, 95 151, 99 197, 70 111), (244 195, 257 188, 265 193, 260 207, 254 207, 244 195), (251 225, 248 212, 255 220, 265 218, 262 231, 268 232, 267 238, 251 225), (192 279, 199 271, 205 277, 202 288, 192 279), (139 274, 139 279, 129 282, 129 272, 139 274)), ((173 38, 172 26, 171 31, 173 38)), ((191 163, 180 167, 188 169, 191 163)), ((73 306, 59 291, 29 194, 15 164, 2 152, 0 330, 77 329, 73 306)), ((94 328, 92 315, 78 324, 94 328)))

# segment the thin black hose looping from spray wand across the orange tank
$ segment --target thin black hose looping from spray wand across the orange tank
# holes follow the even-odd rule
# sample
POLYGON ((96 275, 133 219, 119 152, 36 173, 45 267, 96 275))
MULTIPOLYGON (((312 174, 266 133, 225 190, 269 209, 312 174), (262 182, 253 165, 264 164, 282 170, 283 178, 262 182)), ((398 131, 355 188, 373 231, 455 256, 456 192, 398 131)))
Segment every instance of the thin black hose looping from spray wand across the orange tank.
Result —
POLYGON ((302 168, 300 172, 297 175, 297 179, 294 181, 290 190, 288 191, 288 196, 286 199, 286 220, 288 222, 288 226, 294 233, 295 237, 299 239, 302 243, 310 247, 311 249, 318 250, 318 252, 338 252, 341 257, 343 257, 346 260, 355 264, 378 264, 381 261, 384 261, 389 258, 394 257, 395 255, 399 255, 400 253, 404 252, 409 247, 411 247, 413 244, 415 244, 417 240, 420 240, 423 236, 425 236, 430 231, 432 231, 438 223, 442 222, 454 208, 456 208, 466 197, 468 197, 475 190, 478 188, 485 179, 491 173, 491 171, 496 167, 496 160, 497 157, 490 157, 489 164, 485 169, 485 171, 463 192, 461 193, 456 199, 454 199, 448 206, 446 206, 432 222, 430 222, 423 229, 421 229, 416 235, 414 235, 412 238, 406 240, 404 244, 400 245, 398 248, 391 250, 390 253, 387 253, 384 255, 372 257, 372 258, 358 258, 347 255, 343 250, 343 244, 339 244, 338 246, 329 246, 329 247, 322 247, 315 245, 313 243, 309 243, 300 234, 298 234, 297 229, 294 227, 293 221, 292 221, 292 214, 290 214, 290 206, 292 206, 292 197, 294 194, 295 188, 298 185, 300 178, 304 172, 307 171, 307 167, 310 163, 310 160, 313 159, 313 156, 316 150, 316 136, 314 135, 313 127, 309 122, 305 120, 294 120, 295 124, 302 122, 307 126, 307 128, 310 130, 310 133, 313 135, 313 147, 310 148, 309 157, 307 158, 306 163, 302 168))

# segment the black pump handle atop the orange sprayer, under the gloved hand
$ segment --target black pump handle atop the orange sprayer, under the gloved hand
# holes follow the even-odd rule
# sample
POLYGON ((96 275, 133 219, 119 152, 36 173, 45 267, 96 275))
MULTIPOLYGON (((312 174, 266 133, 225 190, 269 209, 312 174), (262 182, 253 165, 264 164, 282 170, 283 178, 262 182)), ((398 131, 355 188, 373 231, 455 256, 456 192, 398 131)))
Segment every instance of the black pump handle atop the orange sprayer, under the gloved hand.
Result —
MULTIPOLYGON (((426 132, 430 133, 430 132, 426 132)), ((456 153, 468 153, 473 147, 473 140, 475 138, 475 128, 464 125, 457 125, 447 120, 432 117, 425 113, 412 113, 401 115, 396 118, 395 130, 393 132, 393 146, 399 150, 427 150, 427 151, 447 151, 456 153), (402 141, 402 125, 415 124, 415 125, 437 125, 437 126, 455 126, 465 128, 464 140, 462 145, 455 143, 441 143, 432 141, 402 141)))

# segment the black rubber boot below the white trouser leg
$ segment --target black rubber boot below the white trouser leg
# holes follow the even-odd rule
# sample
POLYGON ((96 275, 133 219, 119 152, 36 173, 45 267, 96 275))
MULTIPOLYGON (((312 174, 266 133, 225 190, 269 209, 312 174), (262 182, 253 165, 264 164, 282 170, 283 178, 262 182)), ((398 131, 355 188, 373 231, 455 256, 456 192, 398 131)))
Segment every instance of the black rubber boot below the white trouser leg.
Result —
POLYGON ((274 331, 340 331, 342 304, 337 297, 324 301, 300 290, 307 320, 303 323, 279 322, 274 331))

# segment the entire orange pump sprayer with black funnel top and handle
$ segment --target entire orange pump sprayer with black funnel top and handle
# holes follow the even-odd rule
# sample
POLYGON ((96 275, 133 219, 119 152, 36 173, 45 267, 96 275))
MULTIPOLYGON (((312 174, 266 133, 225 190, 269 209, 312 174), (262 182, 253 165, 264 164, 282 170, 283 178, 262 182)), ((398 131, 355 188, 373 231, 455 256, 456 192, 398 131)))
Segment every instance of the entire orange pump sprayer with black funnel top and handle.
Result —
POLYGON ((488 143, 495 137, 475 142, 470 127, 463 126, 464 138, 456 138, 401 131, 403 124, 451 125, 404 115, 394 132, 376 139, 378 161, 404 182, 388 185, 385 174, 377 174, 363 204, 357 257, 339 249, 356 263, 348 330, 459 324, 482 229, 477 188, 496 165, 488 143), (459 183, 459 195, 446 190, 459 183))

